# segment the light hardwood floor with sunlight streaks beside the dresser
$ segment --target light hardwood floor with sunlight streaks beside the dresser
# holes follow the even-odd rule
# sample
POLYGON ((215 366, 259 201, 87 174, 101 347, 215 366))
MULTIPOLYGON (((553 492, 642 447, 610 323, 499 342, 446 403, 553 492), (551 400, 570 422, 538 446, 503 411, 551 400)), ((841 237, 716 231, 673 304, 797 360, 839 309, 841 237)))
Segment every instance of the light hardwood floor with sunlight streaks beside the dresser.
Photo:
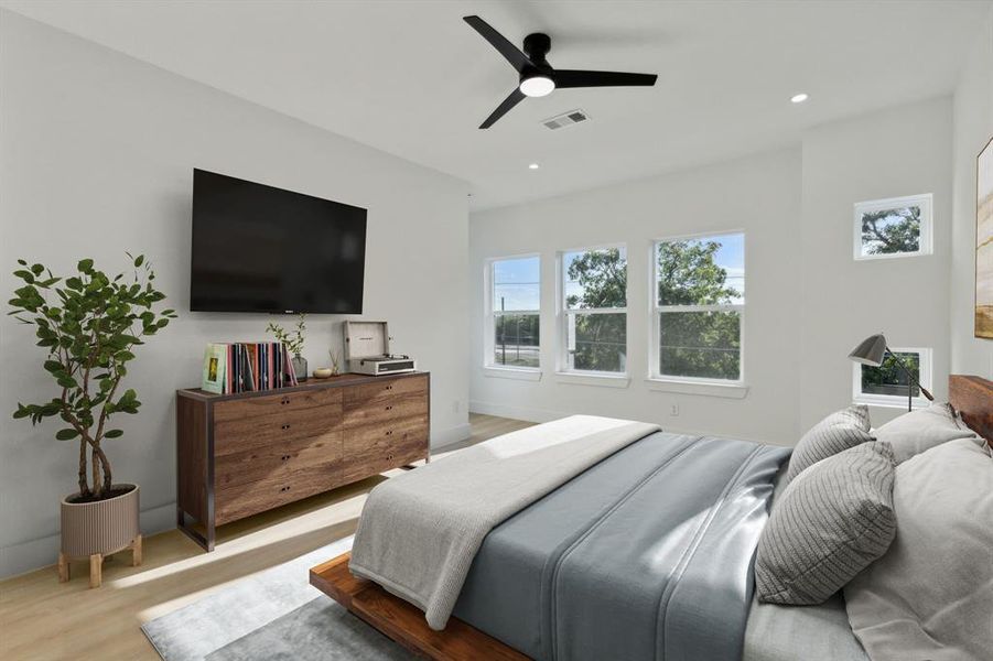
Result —
MULTIPOLYGON (((472 437, 445 453, 530 426, 477 414, 469 422, 472 437)), ((104 565, 104 585, 96 589, 88 588, 84 563, 73 563, 69 583, 58 583, 54 565, 3 581, 0 659, 155 660, 159 655, 139 629, 142 622, 352 534, 366 494, 385 479, 370 478, 225 525, 213 553, 176 530, 145 538, 143 564, 132 567, 129 553, 119 554, 104 565)))

